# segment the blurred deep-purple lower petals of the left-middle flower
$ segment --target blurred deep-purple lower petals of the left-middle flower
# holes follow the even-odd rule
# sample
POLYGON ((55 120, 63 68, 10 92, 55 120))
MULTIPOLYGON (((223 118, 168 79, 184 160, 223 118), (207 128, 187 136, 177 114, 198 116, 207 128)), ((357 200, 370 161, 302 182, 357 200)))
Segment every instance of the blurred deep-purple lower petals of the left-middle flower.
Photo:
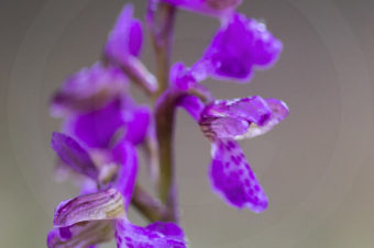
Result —
POLYGON ((147 133, 150 117, 148 106, 121 97, 101 109, 68 116, 63 132, 92 148, 108 148, 122 138, 138 145, 147 133))

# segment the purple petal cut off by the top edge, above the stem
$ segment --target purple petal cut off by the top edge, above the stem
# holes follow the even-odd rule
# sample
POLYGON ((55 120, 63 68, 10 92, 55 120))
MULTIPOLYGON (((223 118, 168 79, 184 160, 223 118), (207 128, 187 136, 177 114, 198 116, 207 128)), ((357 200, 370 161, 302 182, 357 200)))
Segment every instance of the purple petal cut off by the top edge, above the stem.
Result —
POLYGON ((162 0, 178 8, 208 15, 229 15, 242 0, 162 0))

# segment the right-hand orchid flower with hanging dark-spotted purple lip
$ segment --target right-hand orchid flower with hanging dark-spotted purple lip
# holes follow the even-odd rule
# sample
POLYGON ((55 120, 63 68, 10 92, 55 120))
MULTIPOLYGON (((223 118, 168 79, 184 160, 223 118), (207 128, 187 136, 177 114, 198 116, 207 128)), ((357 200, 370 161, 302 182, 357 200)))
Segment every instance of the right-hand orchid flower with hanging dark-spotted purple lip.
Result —
POLYGON ((288 114, 286 104, 275 99, 251 97, 204 105, 197 97, 190 95, 183 98, 179 104, 212 143, 209 178, 213 191, 234 207, 263 212, 267 198, 235 139, 270 131, 288 114))

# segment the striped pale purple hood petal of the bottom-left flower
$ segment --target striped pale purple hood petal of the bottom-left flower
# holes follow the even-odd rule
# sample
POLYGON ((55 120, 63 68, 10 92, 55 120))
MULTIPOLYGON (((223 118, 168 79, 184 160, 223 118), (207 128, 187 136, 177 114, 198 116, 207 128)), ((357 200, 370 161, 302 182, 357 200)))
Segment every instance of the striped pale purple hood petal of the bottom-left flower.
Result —
POLYGON ((62 202, 55 211, 54 226, 119 217, 124 217, 122 194, 116 189, 108 189, 62 202))

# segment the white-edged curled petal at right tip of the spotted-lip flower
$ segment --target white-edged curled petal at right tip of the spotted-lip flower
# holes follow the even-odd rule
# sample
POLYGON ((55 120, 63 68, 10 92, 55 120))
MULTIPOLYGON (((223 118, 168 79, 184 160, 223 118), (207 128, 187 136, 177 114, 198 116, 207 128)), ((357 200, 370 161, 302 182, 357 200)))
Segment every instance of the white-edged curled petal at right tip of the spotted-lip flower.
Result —
POLYGON ((288 115, 288 106, 286 103, 277 100, 277 99, 267 99, 267 105, 272 110, 272 114, 270 120, 266 122, 265 125, 258 126, 255 123, 252 123, 248 132, 243 135, 238 135, 235 138, 253 138, 258 135, 263 135, 271 131, 275 125, 282 122, 288 115))

